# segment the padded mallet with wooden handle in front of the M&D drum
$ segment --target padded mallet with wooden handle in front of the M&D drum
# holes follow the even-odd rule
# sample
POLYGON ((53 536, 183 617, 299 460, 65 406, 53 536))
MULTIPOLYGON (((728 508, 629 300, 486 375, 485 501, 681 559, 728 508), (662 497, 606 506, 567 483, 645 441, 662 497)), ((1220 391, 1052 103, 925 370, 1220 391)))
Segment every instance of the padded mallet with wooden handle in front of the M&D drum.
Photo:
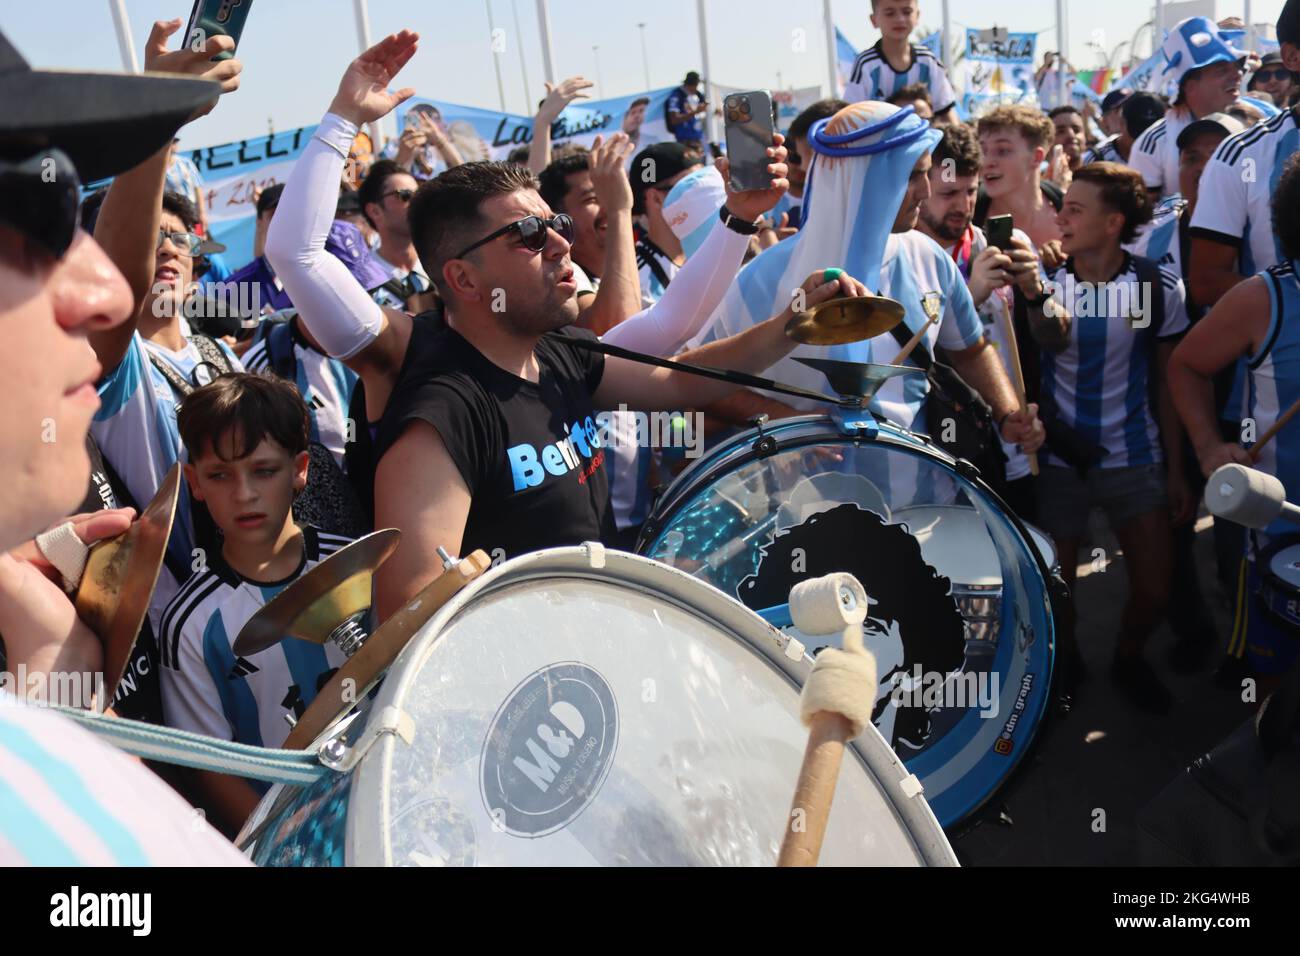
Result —
POLYGON ((806 635, 838 633, 841 648, 826 648, 803 684, 800 717, 809 728, 803 765, 794 786, 777 866, 816 866, 831 817, 844 744, 871 721, 876 659, 862 644, 867 592, 850 574, 800 581, 790 591, 790 620, 806 635))

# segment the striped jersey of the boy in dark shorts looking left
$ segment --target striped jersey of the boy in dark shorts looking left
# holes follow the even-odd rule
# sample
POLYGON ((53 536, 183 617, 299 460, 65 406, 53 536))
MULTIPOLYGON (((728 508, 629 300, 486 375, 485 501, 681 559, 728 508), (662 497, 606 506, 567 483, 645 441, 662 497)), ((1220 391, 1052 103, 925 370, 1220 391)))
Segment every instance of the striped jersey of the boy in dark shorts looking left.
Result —
MULTIPOLYGON (((1072 321, 1066 349, 1043 354, 1043 390, 1066 425, 1106 449, 1102 468, 1158 463, 1164 454, 1152 407, 1150 369, 1157 342, 1187 330, 1183 280, 1160 269, 1165 316, 1157 328, 1147 299, 1157 290, 1141 289, 1131 255, 1106 284, 1083 282, 1072 267, 1072 260, 1067 261, 1052 276, 1057 300, 1063 299, 1072 321), (1148 316, 1145 328, 1134 321, 1139 313, 1148 316)), ((1049 462, 1063 464, 1054 455, 1049 462)))

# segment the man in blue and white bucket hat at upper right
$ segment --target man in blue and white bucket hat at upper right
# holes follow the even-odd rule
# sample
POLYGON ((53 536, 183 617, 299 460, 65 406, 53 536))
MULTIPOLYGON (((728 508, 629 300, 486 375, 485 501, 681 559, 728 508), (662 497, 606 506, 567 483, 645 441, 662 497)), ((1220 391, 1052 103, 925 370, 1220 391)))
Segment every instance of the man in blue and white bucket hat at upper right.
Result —
POLYGON ((1205 17, 1188 17, 1175 26, 1161 52, 1164 79, 1176 79, 1178 96, 1165 118, 1138 138, 1128 156, 1128 165, 1143 174, 1154 200, 1178 185, 1178 134, 1236 103, 1247 57, 1205 17))

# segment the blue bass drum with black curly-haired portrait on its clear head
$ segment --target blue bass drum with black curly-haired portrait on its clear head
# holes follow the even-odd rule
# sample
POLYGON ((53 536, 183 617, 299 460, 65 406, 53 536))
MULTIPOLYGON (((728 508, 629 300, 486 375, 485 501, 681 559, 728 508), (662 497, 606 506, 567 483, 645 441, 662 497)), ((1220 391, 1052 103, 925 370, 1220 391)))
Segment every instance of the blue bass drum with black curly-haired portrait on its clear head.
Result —
POLYGON ((874 721, 945 827, 1023 760, 1050 697, 1054 551, 966 463, 875 419, 744 432, 666 490, 637 550, 734 596, 810 648, 785 609, 848 571, 871 598, 874 721), (1041 553, 1040 553, 1041 551, 1041 553))

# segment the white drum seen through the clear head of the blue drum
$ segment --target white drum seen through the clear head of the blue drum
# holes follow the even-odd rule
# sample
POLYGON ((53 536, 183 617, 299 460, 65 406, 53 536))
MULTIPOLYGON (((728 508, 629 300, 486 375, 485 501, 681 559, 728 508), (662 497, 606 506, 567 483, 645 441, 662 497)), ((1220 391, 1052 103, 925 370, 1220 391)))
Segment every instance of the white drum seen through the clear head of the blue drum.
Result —
MULTIPOLYGON (((1002 570, 988 524, 971 507, 931 505, 901 509, 894 520, 920 542, 926 563, 952 581, 952 594, 966 624, 966 640, 997 640, 1001 622, 1002 570)), ((1043 563, 1058 572, 1056 546, 1046 533, 1026 523, 1043 563)))

